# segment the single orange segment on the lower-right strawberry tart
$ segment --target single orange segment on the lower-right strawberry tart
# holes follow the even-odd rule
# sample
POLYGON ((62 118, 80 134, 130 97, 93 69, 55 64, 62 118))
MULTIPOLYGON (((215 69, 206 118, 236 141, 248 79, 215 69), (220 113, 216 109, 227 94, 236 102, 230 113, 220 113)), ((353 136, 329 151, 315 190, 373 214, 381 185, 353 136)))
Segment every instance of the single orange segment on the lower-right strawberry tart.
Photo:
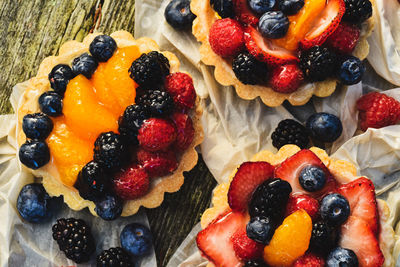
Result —
POLYGON ((298 210, 283 221, 276 229, 268 246, 264 248, 264 260, 270 266, 292 266, 310 244, 311 217, 298 210))

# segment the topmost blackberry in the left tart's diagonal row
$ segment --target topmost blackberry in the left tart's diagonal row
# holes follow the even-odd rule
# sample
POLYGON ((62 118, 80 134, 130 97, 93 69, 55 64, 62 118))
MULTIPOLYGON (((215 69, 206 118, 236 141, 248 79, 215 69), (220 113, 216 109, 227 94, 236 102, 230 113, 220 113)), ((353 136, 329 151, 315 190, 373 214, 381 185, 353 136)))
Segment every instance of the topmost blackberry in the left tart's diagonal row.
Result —
POLYGON ((157 51, 142 54, 129 68, 131 78, 145 88, 163 84, 168 74, 169 61, 157 51))

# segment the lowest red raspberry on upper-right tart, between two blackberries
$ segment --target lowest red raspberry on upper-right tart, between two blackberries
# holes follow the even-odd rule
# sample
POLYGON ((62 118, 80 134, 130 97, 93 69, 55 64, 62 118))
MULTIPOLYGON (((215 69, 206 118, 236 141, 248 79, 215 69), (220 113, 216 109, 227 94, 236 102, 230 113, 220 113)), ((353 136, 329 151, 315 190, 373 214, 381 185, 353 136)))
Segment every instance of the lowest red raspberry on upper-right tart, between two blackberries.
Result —
POLYGON ((303 80, 303 72, 297 64, 286 64, 272 70, 270 85, 276 92, 292 93, 300 87, 303 80))

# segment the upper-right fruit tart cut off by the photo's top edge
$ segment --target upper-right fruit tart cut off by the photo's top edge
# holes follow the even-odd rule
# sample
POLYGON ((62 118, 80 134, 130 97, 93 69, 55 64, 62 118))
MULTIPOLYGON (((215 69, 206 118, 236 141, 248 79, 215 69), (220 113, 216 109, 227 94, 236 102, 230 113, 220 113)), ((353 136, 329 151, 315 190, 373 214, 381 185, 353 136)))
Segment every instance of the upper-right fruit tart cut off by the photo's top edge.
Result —
POLYGON ((275 107, 358 83, 373 0, 192 0, 193 34, 215 78, 275 107))

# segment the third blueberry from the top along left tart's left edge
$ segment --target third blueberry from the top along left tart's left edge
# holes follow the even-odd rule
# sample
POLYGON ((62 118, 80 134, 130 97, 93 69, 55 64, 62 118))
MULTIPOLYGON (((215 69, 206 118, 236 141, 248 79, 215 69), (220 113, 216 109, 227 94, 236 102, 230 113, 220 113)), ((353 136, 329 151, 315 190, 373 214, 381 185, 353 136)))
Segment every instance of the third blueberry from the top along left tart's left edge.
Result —
POLYGON ((58 64, 49 73, 50 86, 59 95, 63 96, 68 82, 74 77, 75 75, 68 65, 58 64))

